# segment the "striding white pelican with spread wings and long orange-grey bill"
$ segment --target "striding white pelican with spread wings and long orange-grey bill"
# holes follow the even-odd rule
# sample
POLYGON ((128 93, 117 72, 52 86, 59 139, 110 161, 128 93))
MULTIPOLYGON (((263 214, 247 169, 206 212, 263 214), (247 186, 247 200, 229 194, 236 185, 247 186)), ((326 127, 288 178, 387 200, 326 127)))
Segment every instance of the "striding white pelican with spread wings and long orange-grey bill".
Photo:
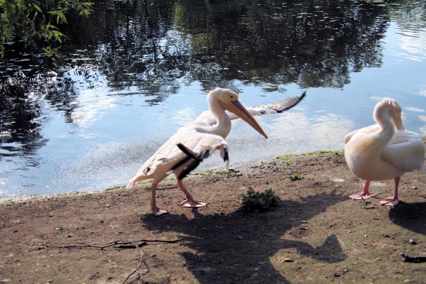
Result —
MULTIPOLYGON (((271 105, 250 108, 254 115, 282 112, 295 106, 304 96, 288 98, 271 105), (262 113, 263 112, 263 113, 262 113)), ((231 118, 242 118, 257 132, 268 138, 259 123, 239 102, 238 95, 229 89, 214 89, 207 94, 210 111, 203 112, 196 120, 178 129, 155 154, 145 162, 136 175, 127 184, 130 189, 136 182, 152 178, 151 210, 154 215, 168 213, 156 205, 155 190, 160 181, 173 173, 186 200, 179 206, 205 207, 207 203, 195 200, 185 188, 182 178, 211 153, 220 151, 221 157, 228 162, 228 146, 225 141, 231 130, 231 118), (229 115, 228 115, 229 114, 229 115), (231 117, 230 117, 231 116, 231 117)))

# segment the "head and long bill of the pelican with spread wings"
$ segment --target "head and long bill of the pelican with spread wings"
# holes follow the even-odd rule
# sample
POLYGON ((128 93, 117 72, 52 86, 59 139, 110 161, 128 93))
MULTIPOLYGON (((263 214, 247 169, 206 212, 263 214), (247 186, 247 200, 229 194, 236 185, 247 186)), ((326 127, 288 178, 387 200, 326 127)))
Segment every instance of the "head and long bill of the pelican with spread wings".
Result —
POLYGON ((260 127, 259 123, 253 118, 252 115, 245 109, 244 106, 239 102, 238 95, 236 92, 231 91, 230 89, 217 88, 213 91, 210 91, 207 95, 207 100, 216 100, 219 106, 223 110, 232 112, 248 124, 253 127, 257 132, 268 138, 268 135, 260 127))

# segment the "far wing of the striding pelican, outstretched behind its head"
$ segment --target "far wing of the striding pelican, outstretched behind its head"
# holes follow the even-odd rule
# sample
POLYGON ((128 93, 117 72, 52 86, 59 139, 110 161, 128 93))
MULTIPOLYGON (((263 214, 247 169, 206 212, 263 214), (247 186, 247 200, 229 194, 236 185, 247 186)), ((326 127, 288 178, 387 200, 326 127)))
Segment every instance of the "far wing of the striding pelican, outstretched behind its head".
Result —
MULTIPOLYGON (((285 100, 279 100, 275 103, 268 103, 261 106, 251 106, 246 108, 250 115, 269 115, 273 113, 280 113, 284 112, 288 109, 291 109, 293 106, 295 106, 297 103, 299 103, 306 95, 306 92, 303 92, 303 94, 299 97, 290 97, 286 98, 285 100)), ((226 114, 229 116, 230 119, 237 119, 238 116, 234 115, 232 112, 225 111, 226 114)), ((206 122, 208 125, 216 124, 216 118, 214 115, 210 112, 210 110, 206 110, 199 115, 197 120, 202 120, 206 122)))

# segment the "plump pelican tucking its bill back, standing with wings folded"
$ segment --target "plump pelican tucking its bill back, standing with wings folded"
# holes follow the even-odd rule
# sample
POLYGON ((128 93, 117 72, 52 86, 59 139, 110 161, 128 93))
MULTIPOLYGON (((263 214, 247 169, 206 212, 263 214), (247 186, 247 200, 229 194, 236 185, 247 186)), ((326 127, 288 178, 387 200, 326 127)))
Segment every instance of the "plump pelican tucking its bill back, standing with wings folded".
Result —
POLYGON ((363 192, 348 198, 374 197, 377 193, 368 190, 370 181, 394 179, 394 196, 379 202, 380 205, 396 206, 400 177, 415 169, 426 172, 425 145, 420 135, 404 129, 401 106, 396 100, 383 98, 374 107, 373 118, 377 124, 355 130, 345 137, 345 158, 349 169, 366 180, 363 192))

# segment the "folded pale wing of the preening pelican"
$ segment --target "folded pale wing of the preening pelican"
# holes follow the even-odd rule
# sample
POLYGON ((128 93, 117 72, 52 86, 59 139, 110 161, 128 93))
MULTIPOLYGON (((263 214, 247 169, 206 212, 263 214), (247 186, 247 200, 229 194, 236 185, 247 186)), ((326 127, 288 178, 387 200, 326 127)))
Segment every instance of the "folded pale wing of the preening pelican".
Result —
POLYGON ((391 164, 394 168, 404 172, 421 169, 426 172, 424 166, 425 144, 420 135, 407 130, 397 130, 380 156, 382 161, 391 164))

